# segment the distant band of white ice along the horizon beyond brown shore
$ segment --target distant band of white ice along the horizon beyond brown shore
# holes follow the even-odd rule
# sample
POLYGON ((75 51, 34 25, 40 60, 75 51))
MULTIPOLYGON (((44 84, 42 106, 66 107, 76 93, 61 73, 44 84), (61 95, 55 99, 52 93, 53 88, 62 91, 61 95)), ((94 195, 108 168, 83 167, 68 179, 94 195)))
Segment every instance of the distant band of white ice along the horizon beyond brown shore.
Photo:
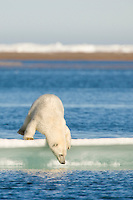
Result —
POLYGON ((34 44, 34 43, 18 43, 18 44, 0 44, 0 52, 17 52, 17 53, 50 53, 50 52, 121 52, 133 53, 133 45, 91 45, 91 44, 72 44, 64 45, 55 44, 34 44))

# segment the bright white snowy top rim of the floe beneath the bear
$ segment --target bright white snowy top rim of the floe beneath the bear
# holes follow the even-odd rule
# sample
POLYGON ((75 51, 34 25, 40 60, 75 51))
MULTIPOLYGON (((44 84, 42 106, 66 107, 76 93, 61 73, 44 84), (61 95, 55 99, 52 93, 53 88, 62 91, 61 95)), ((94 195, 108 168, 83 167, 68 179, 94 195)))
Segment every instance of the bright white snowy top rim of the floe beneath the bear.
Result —
MULTIPOLYGON (((99 138, 99 139, 72 139, 72 146, 109 146, 109 145, 133 145, 133 138, 99 138)), ((45 147, 46 139, 18 140, 0 139, 0 148, 25 148, 45 147)))

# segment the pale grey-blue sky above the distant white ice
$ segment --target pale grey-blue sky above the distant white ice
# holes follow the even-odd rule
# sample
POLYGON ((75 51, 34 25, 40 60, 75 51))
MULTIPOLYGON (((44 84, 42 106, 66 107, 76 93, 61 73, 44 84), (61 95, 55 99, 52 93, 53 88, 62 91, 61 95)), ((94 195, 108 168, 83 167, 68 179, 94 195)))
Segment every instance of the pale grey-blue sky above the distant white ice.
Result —
POLYGON ((0 0, 0 44, 133 44, 133 0, 0 0))

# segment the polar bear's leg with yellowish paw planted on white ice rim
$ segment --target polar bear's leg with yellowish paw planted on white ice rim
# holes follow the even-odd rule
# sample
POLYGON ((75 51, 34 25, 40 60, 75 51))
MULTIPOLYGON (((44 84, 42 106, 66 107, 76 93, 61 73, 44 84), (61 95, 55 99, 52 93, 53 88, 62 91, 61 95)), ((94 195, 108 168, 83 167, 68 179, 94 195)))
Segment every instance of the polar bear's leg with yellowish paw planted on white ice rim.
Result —
POLYGON ((33 140, 36 132, 36 120, 31 120, 24 132, 24 140, 33 140))

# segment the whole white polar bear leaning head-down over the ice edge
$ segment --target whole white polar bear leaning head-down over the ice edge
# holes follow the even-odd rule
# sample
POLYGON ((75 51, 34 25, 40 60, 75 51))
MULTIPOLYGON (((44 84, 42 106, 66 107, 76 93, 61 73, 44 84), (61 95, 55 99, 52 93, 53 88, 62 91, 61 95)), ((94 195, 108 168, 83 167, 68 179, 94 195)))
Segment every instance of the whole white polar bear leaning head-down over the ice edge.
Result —
POLYGON ((40 96, 31 106, 18 133, 32 140, 35 131, 46 136, 47 143, 61 164, 65 164, 67 149, 71 147, 71 134, 64 119, 61 100, 53 94, 40 96))

